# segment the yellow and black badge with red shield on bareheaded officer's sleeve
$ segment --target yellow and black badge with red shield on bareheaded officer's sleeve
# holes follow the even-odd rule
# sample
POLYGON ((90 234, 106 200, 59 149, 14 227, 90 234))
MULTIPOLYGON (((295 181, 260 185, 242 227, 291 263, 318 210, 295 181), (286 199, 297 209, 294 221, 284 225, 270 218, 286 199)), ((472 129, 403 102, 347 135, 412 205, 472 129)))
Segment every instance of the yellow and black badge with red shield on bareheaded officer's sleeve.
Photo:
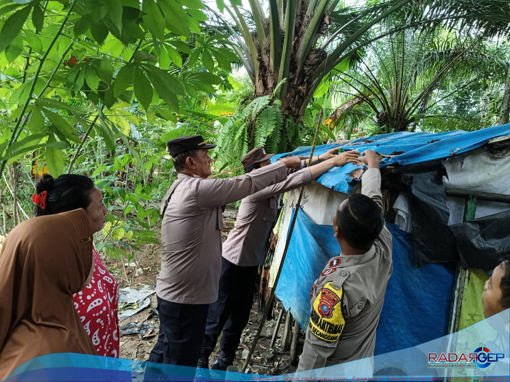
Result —
POLYGON ((340 338, 345 325, 342 314, 343 289, 336 289, 331 282, 326 283, 315 298, 309 329, 318 339, 335 342, 340 338))

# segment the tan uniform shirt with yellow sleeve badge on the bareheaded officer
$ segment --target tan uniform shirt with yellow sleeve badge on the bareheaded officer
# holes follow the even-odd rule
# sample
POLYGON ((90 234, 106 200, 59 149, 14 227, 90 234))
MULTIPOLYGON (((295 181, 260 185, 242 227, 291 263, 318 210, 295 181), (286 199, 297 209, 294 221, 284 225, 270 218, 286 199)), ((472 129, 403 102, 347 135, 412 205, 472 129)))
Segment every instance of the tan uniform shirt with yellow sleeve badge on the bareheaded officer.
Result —
MULTIPOLYGON (((382 209, 380 172, 369 169, 362 194, 382 209)), ((312 285, 310 323, 297 371, 374 355, 375 329, 393 271, 392 237, 384 227, 363 255, 330 259, 312 285)))

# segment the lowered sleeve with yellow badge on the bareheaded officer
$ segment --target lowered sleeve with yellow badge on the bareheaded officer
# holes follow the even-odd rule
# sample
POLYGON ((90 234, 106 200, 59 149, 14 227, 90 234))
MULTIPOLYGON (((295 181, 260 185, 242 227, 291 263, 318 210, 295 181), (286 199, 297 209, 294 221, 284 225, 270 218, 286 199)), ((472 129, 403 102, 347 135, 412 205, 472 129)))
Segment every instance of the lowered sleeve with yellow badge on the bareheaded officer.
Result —
POLYGON ((343 289, 335 288, 331 282, 318 292, 296 371, 325 367, 327 359, 335 352, 345 324, 342 294, 343 289))

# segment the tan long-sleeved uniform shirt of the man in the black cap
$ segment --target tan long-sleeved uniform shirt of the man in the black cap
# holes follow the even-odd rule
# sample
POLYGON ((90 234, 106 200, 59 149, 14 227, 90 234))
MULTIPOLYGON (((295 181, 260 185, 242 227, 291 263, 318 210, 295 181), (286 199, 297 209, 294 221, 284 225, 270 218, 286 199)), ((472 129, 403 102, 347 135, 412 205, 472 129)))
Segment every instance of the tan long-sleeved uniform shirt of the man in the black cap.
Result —
POLYGON ((158 296, 181 304, 214 303, 221 274, 222 206, 285 179, 287 169, 281 161, 228 179, 178 174, 176 181, 180 183, 161 226, 163 253, 156 283, 158 296))

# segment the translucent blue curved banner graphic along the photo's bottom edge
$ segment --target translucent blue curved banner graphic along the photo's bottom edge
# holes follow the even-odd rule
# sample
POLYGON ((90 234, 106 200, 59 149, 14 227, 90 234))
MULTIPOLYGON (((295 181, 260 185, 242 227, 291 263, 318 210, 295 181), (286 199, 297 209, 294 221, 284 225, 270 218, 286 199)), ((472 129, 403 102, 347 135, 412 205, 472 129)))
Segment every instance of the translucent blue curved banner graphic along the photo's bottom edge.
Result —
MULTIPOLYGON (((433 302, 431 302, 433 303, 433 302)), ((421 345, 363 360, 284 375, 260 375, 162 365, 83 354, 60 353, 36 357, 17 367, 3 381, 253 381, 253 380, 475 380, 508 381, 509 334, 505 324, 509 310, 480 321, 462 331, 421 345), (480 338, 486 339, 480 343, 480 338), (432 363, 429 353, 473 353, 480 346, 504 359, 488 367, 443 367, 432 363)), ((405 331, 405 328, 402 328, 405 331)), ((443 363, 444 364, 444 363, 443 363)), ((439 364, 441 365, 441 363, 439 364)), ((452 366, 452 363, 445 364, 452 366)), ((458 366, 458 365, 457 365, 458 366)))

